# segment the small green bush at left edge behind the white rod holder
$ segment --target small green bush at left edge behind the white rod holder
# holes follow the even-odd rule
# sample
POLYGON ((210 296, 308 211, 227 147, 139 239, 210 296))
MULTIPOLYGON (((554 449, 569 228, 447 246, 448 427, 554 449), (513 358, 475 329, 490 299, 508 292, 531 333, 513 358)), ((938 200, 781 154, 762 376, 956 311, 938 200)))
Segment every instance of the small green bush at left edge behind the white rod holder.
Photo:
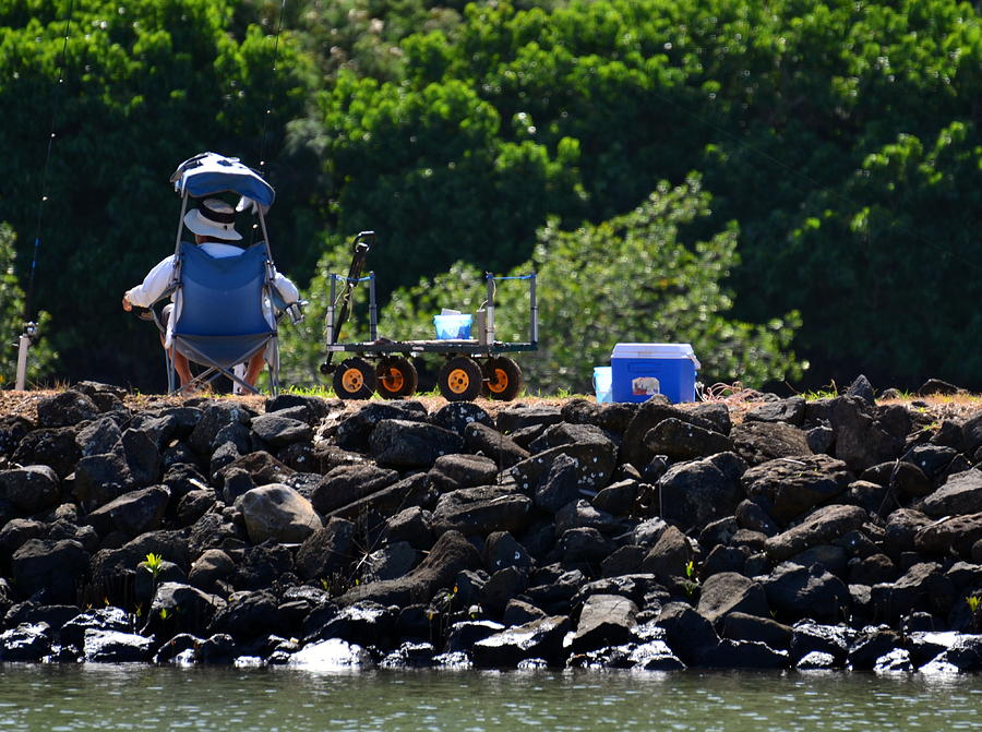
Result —
MULTIPOLYGON (((15 240, 13 229, 0 224, 0 388, 16 381, 20 336, 24 332, 24 288, 14 272, 15 240)), ((36 384, 49 380, 58 355, 51 350, 47 337, 51 316, 40 311, 32 313, 38 337, 27 351, 26 380, 36 384)))

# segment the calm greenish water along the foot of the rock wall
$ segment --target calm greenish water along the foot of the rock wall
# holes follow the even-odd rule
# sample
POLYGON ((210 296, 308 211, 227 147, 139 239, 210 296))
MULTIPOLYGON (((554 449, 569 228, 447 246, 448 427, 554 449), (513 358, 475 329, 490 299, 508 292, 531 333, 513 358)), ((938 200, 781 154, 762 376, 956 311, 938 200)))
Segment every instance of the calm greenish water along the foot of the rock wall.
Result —
POLYGON ((0 730, 978 730, 982 676, 0 667, 0 730))

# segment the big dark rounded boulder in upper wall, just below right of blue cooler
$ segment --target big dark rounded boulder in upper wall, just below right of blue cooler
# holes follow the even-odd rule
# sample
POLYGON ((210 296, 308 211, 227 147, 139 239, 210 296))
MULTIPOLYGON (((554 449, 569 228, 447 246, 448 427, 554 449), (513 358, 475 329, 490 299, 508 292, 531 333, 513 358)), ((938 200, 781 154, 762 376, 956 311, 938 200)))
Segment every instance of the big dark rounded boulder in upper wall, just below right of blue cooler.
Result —
POLYGON ((739 473, 745 467, 733 453, 672 466, 657 484, 662 518, 682 527, 702 527, 732 515, 743 499, 739 473))

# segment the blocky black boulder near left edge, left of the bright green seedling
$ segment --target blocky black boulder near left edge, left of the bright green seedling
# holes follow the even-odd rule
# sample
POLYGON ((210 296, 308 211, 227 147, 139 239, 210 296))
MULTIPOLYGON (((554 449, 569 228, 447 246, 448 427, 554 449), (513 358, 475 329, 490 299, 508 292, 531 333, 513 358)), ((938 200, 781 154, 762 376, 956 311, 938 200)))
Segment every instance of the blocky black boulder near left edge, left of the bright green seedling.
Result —
POLYGON ((88 575, 88 553, 73 540, 29 539, 11 559, 11 576, 25 598, 40 593, 44 601, 72 602, 88 575))

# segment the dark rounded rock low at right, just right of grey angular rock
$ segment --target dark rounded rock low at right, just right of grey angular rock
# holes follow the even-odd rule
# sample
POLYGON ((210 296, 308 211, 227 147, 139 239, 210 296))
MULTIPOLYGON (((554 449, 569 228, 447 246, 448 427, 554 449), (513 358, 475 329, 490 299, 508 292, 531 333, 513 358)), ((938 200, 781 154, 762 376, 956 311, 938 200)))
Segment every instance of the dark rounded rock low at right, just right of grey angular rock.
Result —
POLYGON ((764 581, 764 590, 769 605, 782 617, 837 621, 848 614, 851 603, 842 580, 821 564, 780 564, 764 581))

